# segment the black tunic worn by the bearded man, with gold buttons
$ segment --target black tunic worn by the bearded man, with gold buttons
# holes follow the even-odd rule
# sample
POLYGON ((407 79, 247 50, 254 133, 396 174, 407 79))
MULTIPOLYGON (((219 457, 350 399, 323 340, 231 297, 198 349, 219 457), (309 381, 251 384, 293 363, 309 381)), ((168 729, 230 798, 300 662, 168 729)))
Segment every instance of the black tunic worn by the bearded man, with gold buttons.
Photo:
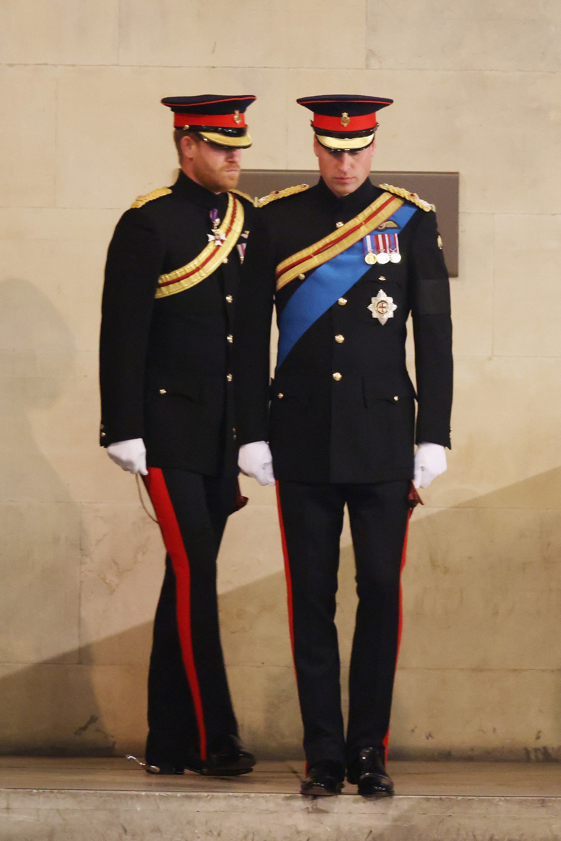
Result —
MULTIPOLYGON (((151 467, 234 474, 230 353, 241 265, 237 247, 201 283, 155 299, 160 275, 185 266, 208 245, 209 213, 216 209, 224 219, 228 194, 210 193, 183 172, 171 189, 127 210, 108 249, 100 442, 107 447, 143 438, 151 467)), ((247 231, 253 207, 240 200, 247 231)))

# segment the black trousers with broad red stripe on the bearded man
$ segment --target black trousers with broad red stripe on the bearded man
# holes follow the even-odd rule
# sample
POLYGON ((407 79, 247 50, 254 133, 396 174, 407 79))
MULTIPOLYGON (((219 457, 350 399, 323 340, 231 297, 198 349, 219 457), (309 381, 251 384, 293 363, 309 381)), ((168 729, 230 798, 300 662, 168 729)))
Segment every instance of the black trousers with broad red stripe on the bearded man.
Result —
POLYGON ((146 762, 199 768, 213 743, 238 733, 216 597, 216 557, 237 479, 149 468, 146 488, 167 549, 148 676, 146 762))

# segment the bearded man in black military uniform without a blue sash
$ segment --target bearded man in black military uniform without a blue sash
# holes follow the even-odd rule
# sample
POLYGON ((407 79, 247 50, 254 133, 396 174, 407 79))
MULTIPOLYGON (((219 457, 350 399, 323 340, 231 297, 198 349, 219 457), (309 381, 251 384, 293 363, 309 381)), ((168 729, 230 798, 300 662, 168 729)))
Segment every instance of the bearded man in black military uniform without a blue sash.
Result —
POLYGON ((181 171, 109 246, 101 444, 141 473, 167 548, 148 680, 146 770, 251 770, 226 680, 216 557, 240 506, 230 353, 251 200, 236 187, 253 96, 172 97, 181 171))

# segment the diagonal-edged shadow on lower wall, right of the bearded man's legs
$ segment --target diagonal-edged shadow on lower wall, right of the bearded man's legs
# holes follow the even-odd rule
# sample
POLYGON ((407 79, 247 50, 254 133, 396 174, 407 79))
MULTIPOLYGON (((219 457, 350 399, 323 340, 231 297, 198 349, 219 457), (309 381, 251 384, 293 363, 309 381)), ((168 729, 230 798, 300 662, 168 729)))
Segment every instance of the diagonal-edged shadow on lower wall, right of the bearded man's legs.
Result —
MULTIPOLYGON (((401 759, 561 759, 561 468, 411 521, 390 752, 401 759)), ((343 706, 356 611, 341 552, 343 706)), ((246 742, 301 756, 285 583, 220 599, 246 742)))

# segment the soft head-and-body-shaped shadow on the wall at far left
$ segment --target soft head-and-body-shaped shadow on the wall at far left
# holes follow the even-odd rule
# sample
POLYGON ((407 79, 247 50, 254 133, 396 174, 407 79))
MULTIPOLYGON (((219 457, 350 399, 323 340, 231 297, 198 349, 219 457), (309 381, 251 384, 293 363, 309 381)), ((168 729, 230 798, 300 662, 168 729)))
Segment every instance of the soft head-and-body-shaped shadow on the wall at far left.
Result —
MULTIPOLYGON (((78 506, 34 441, 30 415, 61 398, 75 351, 50 301, 26 280, 0 283, 0 743, 4 752, 67 742, 79 654, 78 506), (36 665, 28 665, 36 664, 36 665)), ((40 415, 38 420, 40 421, 40 415)), ((67 431, 61 429, 60 447, 67 431)), ((93 685, 83 706, 98 715, 93 685)))

